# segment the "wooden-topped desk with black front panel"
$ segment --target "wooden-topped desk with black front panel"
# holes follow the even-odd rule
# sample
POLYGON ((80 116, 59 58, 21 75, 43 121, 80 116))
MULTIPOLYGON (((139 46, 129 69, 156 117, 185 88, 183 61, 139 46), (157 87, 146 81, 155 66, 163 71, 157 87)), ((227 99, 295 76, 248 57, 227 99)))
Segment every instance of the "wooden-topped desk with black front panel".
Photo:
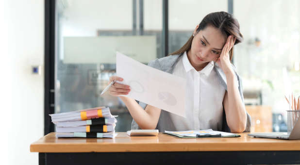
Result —
POLYGON ((253 138, 130 137, 60 138, 49 133, 30 146, 40 165, 83 164, 299 164, 300 140, 253 138))

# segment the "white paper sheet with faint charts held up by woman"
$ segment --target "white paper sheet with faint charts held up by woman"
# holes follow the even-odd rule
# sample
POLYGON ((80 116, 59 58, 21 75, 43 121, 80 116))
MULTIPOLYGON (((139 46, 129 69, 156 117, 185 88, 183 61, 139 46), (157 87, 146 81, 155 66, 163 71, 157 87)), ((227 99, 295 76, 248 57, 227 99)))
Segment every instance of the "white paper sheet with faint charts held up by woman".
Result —
POLYGON ((185 117, 186 80, 139 63, 117 52, 117 76, 131 87, 132 99, 185 117))

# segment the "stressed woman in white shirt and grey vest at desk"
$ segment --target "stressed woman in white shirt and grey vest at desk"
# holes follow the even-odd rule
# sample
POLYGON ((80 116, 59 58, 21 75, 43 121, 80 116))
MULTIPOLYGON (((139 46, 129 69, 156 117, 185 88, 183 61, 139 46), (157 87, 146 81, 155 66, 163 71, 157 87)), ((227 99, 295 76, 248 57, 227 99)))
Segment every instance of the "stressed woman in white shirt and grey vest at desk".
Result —
MULTIPOLYGON (((231 14, 210 13, 181 49, 148 64, 186 79, 186 118, 119 96, 130 92, 128 85, 115 83, 109 94, 119 96, 127 106, 133 117, 132 129, 250 132, 240 78, 231 64, 233 45, 242 39, 231 14)), ((110 78, 114 80, 122 78, 110 78)))

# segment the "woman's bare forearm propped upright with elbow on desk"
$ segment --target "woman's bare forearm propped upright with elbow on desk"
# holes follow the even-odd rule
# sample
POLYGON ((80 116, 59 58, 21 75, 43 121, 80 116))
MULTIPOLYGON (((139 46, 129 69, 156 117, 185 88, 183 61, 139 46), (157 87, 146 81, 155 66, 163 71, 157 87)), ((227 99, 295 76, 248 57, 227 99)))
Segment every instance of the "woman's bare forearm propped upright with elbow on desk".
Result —
POLYGON ((247 114, 245 105, 239 94, 235 73, 226 74, 227 91, 223 99, 226 121, 231 132, 244 132, 247 114))

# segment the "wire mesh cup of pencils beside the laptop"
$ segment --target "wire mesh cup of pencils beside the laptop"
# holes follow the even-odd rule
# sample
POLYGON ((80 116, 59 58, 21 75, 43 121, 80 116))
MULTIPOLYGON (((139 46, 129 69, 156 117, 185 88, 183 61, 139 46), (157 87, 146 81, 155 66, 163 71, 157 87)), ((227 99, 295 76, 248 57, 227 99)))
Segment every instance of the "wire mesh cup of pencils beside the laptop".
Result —
POLYGON ((288 99, 286 97, 285 99, 289 105, 289 110, 287 110, 287 133, 291 133, 300 116, 300 97, 295 99, 292 94, 288 99))

